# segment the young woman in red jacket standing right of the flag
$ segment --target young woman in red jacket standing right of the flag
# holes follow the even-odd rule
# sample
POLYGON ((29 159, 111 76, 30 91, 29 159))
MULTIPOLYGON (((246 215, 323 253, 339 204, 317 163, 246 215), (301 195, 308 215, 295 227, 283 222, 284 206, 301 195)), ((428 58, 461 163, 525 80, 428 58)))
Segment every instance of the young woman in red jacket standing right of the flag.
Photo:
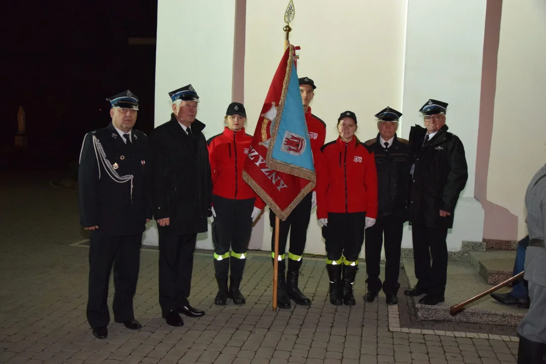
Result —
POLYGON ((330 303, 352 306, 364 229, 377 216, 377 171, 373 152, 354 135, 354 112, 342 112, 337 130, 339 138, 325 144, 319 156, 317 217, 326 244, 330 303))

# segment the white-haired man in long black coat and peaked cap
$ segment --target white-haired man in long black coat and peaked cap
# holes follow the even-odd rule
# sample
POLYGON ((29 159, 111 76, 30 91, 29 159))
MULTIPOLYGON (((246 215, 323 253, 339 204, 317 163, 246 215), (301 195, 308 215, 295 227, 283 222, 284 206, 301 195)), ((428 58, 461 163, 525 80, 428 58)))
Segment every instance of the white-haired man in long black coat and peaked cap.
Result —
POLYGON ((182 326, 179 313, 205 314, 189 305, 197 234, 212 216, 212 181, 205 124, 195 118, 199 96, 192 85, 169 92, 170 121, 150 135, 153 217, 159 230, 159 305, 171 326, 182 326))

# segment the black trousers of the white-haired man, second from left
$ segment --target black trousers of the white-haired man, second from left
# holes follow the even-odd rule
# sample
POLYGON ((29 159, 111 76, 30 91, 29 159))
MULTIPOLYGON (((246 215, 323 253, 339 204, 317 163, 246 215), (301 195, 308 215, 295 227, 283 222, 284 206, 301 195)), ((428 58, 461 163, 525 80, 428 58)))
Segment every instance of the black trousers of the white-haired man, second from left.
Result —
POLYGON ((197 234, 159 232, 159 305, 163 312, 189 305, 197 234))

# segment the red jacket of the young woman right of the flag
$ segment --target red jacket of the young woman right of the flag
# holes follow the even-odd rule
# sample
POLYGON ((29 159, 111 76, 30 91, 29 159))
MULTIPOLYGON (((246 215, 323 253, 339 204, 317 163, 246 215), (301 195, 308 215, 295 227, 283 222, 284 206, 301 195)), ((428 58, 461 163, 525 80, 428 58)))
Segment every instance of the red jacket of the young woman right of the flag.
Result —
POLYGON ((373 152, 357 138, 337 138, 321 148, 317 171, 317 217, 328 212, 366 212, 377 218, 377 170, 373 152))

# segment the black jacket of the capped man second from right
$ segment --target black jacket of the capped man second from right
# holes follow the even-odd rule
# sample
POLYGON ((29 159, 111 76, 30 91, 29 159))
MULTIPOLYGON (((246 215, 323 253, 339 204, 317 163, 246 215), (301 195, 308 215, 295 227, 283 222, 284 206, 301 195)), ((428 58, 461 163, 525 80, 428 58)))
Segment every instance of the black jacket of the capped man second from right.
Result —
POLYGON ((407 201, 413 153, 408 141, 396 136, 387 150, 377 138, 365 142, 375 155, 377 169, 377 217, 408 219, 407 201))

